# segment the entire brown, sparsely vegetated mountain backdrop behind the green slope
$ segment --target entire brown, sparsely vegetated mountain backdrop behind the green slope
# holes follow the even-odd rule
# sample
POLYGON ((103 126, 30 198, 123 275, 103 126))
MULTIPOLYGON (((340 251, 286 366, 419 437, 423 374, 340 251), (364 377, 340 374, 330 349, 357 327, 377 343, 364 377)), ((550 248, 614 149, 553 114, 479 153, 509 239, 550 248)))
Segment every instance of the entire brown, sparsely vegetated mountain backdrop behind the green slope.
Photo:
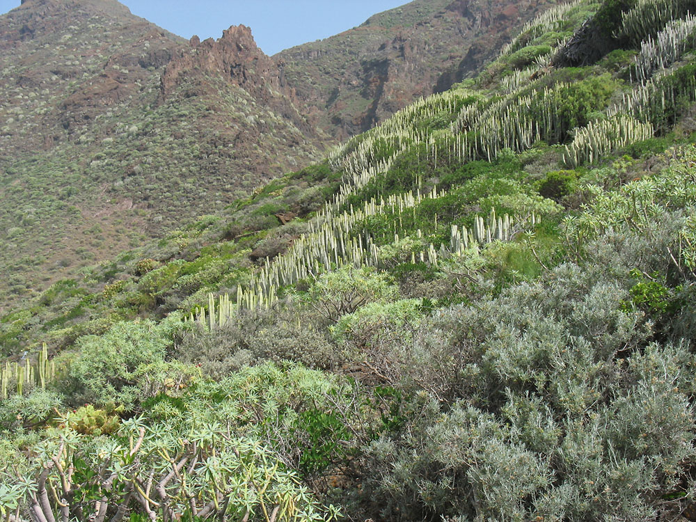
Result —
POLYGON ((310 164, 477 70, 544 5, 417 1, 269 58, 243 26, 186 42, 116 0, 23 2, 0 17, 0 297, 310 164))

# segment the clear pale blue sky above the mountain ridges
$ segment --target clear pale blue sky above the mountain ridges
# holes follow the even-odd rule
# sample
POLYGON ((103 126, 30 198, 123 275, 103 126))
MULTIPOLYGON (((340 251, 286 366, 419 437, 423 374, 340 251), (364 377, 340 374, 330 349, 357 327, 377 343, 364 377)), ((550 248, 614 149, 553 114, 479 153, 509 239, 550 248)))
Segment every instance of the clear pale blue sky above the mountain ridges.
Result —
MULTIPOLYGON (((0 13, 20 0, 0 0, 0 13)), ((230 25, 250 26, 266 54, 340 33, 408 0, 122 0, 134 15, 184 38, 219 38, 230 25)))

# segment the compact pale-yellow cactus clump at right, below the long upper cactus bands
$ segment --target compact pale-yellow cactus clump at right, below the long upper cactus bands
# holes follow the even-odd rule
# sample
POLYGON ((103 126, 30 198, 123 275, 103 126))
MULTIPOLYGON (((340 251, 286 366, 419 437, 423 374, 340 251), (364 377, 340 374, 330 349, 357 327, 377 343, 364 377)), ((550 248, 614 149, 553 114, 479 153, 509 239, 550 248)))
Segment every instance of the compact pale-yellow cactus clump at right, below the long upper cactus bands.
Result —
POLYGON ((590 122, 579 129, 573 143, 566 146, 563 159, 572 168, 583 163, 592 164, 610 152, 649 139, 654 134, 650 123, 618 114, 608 120, 590 122))

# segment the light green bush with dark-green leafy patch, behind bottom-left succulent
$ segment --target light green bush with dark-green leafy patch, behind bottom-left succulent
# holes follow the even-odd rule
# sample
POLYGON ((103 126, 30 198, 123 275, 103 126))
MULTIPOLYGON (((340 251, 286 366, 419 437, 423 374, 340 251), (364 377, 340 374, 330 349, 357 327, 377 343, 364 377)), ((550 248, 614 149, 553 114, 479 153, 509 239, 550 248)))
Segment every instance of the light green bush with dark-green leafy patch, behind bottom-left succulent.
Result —
POLYGON ((180 398, 148 401, 148 422, 189 429, 191 419, 222 423, 262 441, 303 477, 345 466, 377 429, 367 393, 335 374, 292 363, 260 363, 201 383, 180 398))

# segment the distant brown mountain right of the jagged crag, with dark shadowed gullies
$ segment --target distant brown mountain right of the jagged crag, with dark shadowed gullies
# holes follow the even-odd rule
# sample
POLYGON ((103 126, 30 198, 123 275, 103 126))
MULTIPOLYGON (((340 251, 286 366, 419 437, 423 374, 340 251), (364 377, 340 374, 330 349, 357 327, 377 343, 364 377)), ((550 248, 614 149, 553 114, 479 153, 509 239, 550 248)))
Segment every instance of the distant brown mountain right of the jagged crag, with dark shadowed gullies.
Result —
POLYGON ((416 0, 276 56, 322 128, 347 138, 475 76, 553 0, 416 0))

